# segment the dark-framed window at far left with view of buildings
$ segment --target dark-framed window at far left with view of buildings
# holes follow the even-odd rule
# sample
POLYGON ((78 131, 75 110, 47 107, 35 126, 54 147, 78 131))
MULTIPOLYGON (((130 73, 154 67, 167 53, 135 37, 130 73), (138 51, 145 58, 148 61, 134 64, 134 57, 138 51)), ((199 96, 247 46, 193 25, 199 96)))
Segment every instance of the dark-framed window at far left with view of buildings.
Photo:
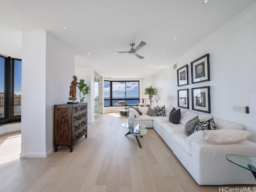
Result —
POLYGON ((0 56, 0 124, 21 120, 21 60, 0 56))

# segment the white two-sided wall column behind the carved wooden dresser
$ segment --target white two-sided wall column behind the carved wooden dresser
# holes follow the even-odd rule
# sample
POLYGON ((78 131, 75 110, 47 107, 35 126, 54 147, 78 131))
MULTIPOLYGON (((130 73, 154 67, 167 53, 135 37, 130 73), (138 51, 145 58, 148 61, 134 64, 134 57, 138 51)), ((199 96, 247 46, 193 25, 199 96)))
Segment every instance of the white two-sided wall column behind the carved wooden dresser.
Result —
POLYGON ((22 32, 20 157, 46 157, 52 152, 53 106, 68 100, 74 64, 74 54, 48 32, 22 32))

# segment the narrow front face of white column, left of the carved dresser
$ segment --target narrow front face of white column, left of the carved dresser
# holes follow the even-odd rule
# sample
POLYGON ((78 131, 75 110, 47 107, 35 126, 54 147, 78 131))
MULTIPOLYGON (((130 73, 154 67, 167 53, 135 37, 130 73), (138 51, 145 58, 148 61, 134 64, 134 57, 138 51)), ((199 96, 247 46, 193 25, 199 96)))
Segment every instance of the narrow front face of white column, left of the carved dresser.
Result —
POLYGON ((22 32, 20 157, 45 156, 46 31, 22 32))

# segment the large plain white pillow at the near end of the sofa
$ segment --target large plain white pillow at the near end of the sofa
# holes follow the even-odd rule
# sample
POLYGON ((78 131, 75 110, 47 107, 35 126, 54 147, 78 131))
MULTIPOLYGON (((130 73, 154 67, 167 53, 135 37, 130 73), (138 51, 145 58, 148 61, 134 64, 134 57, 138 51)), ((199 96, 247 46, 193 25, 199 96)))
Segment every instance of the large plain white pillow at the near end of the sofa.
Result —
POLYGON ((208 144, 232 144, 247 140, 251 135, 250 132, 245 130, 202 130, 188 136, 186 141, 188 144, 193 141, 208 144))

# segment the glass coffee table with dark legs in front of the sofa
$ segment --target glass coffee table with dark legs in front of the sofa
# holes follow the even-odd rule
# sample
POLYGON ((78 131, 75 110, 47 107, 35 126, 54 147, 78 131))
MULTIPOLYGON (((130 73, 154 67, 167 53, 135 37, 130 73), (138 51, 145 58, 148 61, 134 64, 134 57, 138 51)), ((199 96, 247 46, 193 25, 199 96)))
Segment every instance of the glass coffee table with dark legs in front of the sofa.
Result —
POLYGON ((121 124, 121 126, 127 128, 129 130, 129 132, 126 133, 125 136, 127 136, 129 134, 134 135, 140 148, 142 148, 138 137, 143 137, 144 135, 147 134, 147 132, 148 132, 147 126, 144 124, 141 124, 141 123, 134 123, 133 126, 128 125, 128 123, 123 123, 123 124, 121 124))

